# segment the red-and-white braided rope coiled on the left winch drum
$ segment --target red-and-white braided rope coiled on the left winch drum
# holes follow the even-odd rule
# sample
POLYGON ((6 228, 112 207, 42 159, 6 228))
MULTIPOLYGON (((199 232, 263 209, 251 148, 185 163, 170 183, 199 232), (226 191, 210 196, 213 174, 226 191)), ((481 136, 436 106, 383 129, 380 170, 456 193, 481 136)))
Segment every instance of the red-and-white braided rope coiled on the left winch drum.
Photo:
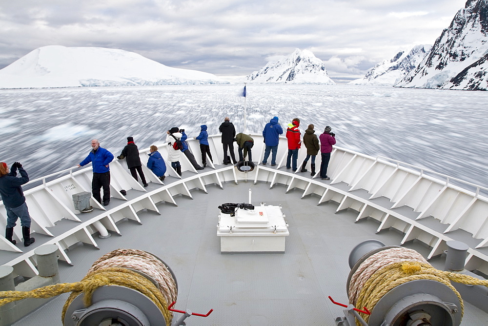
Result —
POLYGON ((88 273, 107 267, 125 267, 141 271, 158 282, 166 302, 176 301, 178 289, 173 275, 161 260, 146 251, 123 248, 113 250, 93 263, 88 273))

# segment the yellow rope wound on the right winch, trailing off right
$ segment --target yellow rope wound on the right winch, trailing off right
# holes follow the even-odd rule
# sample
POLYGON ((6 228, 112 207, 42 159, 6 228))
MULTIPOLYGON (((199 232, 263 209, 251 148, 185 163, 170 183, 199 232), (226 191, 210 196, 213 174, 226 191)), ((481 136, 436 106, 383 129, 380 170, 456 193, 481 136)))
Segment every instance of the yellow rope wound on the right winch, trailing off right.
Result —
MULTIPOLYGON (((488 280, 480 280, 472 276, 438 270, 432 265, 419 262, 398 262, 380 268, 371 275, 363 286, 358 296, 356 307, 373 310, 378 301, 395 286, 414 280, 433 280, 447 285, 458 297, 461 303, 461 317, 464 313, 464 303, 459 292, 451 285, 450 281, 467 285, 488 286, 488 280)), ((369 315, 361 313, 366 323, 369 315)), ((356 321, 360 325, 359 321, 356 321)))

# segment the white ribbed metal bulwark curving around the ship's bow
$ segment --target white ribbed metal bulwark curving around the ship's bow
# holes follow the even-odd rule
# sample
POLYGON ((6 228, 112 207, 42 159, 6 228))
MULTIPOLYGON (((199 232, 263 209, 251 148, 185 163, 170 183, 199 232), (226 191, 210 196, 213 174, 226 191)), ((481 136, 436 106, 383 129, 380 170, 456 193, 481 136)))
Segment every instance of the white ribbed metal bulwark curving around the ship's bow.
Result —
MULTIPOLYGON (((253 161, 261 162, 265 147, 263 138, 261 135, 252 137, 255 141, 252 149, 253 161)), ((302 197, 316 196, 318 205, 336 203, 337 211, 356 211, 356 221, 365 218, 377 221, 378 232, 399 230, 404 234, 400 245, 418 240, 430 248, 427 259, 442 254, 447 249, 447 241, 463 241, 469 246, 466 268, 488 274, 488 198, 480 194, 480 189, 487 190, 486 187, 463 182, 476 188, 476 191, 468 191, 449 183, 449 180, 460 181, 458 179, 399 161, 385 162, 384 157, 374 158, 340 147, 334 147, 328 168, 331 180, 325 182, 320 180, 318 174, 311 178, 309 172, 293 173, 283 168, 287 156, 286 142, 285 138, 280 139, 276 166, 270 166, 269 158, 267 165, 259 163, 252 172, 244 173, 233 165, 217 165, 223 161, 221 138, 219 135, 211 136, 209 143, 215 165, 208 158, 207 163, 212 169, 197 172, 182 154, 180 163, 185 177, 182 179, 170 163, 166 162, 166 176, 175 177, 168 177, 167 184, 162 183, 145 166, 149 149, 143 149, 140 157, 146 180, 158 184, 157 189, 147 191, 132 178, 125 161, 115 160, 110 163, 111 195, 122 200, 122 204, 110 206, 106 210, 91 198, 91 204, 95 207, 94 212, 87 213, 91 215, 80 214, 72 201, 73 194, 91 191, 91 167, 74 167, 32 180, 30 183, 42 182, 24 192, 32 218, 31 231, 39 235, 38 240, 34 245, 24 247, 21 244, 12 245, 1 235, 0 262, 13 266, 15 273, 20 276, 32 277, 38 274, 34 248, 41 244, 56 244, 60 248, 60 260, 72 264, 68 252, 70 246, 81 242, 98 247, 93 235, 107 230, 122 235, 117 224, 126 220, 142 224, 138 212, 143 209, 162 214, 158 204, 165 202, 177 205, 177 196, 192 198, 191 192, 194 189, 206 192, 209 184, 216 184, 224 189, 225 183, 237 184, 250 180, 254 183, 269 183, 270 188, 283 184, 286 192, 292 189, 303 190, 302 197), (187 176, 188 171, 193 174, 187 176), (67 175, 46 180, 66 172, 67 175), (445 177, 446 180, 431 177, 426 172, 445 177), (137 190, 131 192, 131 196, 136 197, 127 199, 129 195, 122 195, 122 189, 137 190)), ((192 139, 188 141, 188 145, 197 161, 200 161, 198 142, 192 139)), ((158 147, 163 158, 166 158, 168 145, 163 143, 158 147)), ((301 149, 298 157, 299 170, 305 156, 306 150, 301 149)), ((316 164, 318 171, 320 155, 316 164)), ((0 202, 0 227, 3 229, 5 224, 5 208, 0 202)), ((14 228, 14 239, 20 242, 20 223, 14 228)))

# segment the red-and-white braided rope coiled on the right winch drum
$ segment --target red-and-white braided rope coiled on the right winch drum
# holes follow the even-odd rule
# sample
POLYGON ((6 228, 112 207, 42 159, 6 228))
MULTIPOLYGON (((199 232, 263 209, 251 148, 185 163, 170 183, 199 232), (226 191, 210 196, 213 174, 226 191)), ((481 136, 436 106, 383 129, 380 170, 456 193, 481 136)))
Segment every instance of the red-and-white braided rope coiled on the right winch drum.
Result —
MULTIPOLYGON (((352 275, 349 283, 349 303, 356 306, 357 297, 363 286, 378 269, 400 261, 419 261, 428 264, 422 255, 408 248, 395 247, 377 252, 369 256, 352 275)), ((369 309, 369 307, 367 308, 369 309)))

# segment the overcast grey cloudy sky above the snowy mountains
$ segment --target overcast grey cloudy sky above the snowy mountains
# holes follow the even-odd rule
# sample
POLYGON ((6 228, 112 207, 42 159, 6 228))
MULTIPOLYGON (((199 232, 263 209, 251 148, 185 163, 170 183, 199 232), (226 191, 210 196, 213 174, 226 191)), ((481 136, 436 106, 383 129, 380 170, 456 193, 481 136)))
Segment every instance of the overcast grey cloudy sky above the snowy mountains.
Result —
POLYGON ((330 77, 433 44, 465 0, 0 0, 0 68, 45 45, 133 51, 227 80, 308 49, 330 77))

